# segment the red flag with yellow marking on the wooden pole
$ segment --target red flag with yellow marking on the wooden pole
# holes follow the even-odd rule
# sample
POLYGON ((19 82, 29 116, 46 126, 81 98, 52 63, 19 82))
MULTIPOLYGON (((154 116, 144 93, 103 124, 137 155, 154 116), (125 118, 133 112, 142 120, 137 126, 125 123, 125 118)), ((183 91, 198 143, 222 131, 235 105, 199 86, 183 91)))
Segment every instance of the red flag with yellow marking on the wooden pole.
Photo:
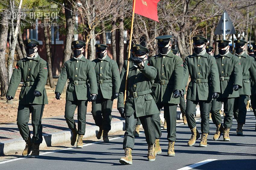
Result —
MULTIPOLYGON (((160 0, 137 0, 134 13, 158 21, 157 3, 160 0)), ((133 2, 134 3, 134 2, 133 2)))

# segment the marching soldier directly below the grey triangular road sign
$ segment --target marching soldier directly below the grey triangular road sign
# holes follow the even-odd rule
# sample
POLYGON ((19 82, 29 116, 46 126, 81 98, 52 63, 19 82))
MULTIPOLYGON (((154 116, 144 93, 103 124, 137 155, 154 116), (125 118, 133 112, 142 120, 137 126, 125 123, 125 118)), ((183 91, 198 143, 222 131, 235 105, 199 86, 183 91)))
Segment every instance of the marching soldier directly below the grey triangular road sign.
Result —
POLYGON ((219 70, 220 90, 216 100, 212 101, 212 121, 217 129, 213 140, 218 140, 223 132, 223 141, 230 141, 229 129, 233 121, 233 108, 236 97, 239 97, 239 88, 242 88, 242 67, 237 56, 229 52, 228 40, 218 40, 219 54, 214 56, 219 70), (224 123, 219 113, 224 104, 224 123))

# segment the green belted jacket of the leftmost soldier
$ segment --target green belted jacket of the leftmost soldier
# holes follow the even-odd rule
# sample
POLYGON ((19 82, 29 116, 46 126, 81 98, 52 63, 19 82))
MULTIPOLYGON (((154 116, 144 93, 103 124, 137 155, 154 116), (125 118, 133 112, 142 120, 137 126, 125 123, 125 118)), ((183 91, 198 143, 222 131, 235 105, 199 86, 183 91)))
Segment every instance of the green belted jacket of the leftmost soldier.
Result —
POLYGON ((23 78, 24 84, 21 87, 19 104, 48 104, 45 84, 48 76, 48 63, 39 55, 33 60, 23 58, 17 62, 12 73, 6 96, 14 98, 17 88, 23 78), (33 92, 37 90, 42 96, 36 97, 33 92))

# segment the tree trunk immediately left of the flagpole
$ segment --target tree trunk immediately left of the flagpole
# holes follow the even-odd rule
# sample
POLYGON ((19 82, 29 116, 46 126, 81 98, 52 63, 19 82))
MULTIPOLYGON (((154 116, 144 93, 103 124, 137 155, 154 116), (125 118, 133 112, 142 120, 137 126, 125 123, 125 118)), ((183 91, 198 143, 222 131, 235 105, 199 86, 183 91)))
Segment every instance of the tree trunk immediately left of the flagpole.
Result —
POLYGON ((123 44, 123 14, 120 15, 119 17, 119 34, 118 34, 118 41, 119 41, 119 58, 117 65, 119 67, 119 71, 121 73, 122 68, 123 68, 123 53, 124 53, 124 44, 123 44))

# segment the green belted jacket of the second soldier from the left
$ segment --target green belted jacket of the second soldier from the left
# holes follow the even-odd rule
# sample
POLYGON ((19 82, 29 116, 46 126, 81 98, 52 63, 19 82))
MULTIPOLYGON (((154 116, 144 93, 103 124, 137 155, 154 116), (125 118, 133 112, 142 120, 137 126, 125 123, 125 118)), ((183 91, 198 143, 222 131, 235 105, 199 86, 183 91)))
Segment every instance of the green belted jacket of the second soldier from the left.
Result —
POLYGON ((66 100, 89 100, 90 94, 98 94, 93 63, 84 56, 80 60, 72 58, 64 63, 55 92, 62 93, 67 79, 66 100))

